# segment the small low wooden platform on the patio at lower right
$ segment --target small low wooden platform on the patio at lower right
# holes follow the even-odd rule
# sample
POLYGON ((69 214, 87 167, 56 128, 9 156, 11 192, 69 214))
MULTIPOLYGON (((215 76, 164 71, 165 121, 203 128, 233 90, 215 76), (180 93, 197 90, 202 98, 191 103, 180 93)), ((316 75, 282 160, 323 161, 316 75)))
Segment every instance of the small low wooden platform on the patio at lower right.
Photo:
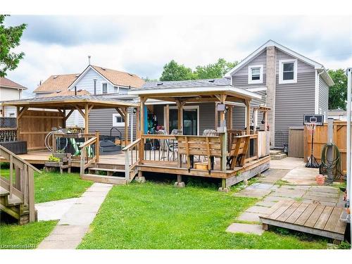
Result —
POLYGON ((265 230, 272 225, 344 241, 346 222, 340 220, 343 210, 320 203, 280 201, 270 208, 268 215, 261 215, 260 220, 265 230))

